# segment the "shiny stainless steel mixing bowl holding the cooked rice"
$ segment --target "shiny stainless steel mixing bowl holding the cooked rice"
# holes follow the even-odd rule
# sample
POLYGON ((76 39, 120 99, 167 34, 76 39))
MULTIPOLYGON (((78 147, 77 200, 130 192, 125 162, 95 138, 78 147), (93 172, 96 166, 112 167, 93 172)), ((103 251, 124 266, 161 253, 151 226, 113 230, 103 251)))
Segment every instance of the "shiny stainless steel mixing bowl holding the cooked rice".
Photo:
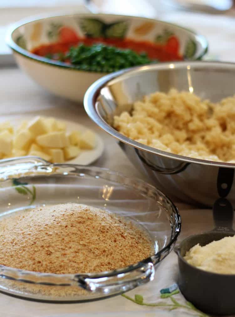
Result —
MULTIPOLYGON (((112 127, 115 114, 130 111, 135 100, 170 88, 194 92, 213 102, 235 93, 235 64, 224 62, 176 62, 142 66, 109 74, 88 88, 85 109, 92 120, 116 138, 130 161, 170 197, 191 204, 212 206, 218 198, 217 176, 235 164, 193 159, 143 145, 112 127)), ((235 203, 235 184, 227 197, 235 203)))

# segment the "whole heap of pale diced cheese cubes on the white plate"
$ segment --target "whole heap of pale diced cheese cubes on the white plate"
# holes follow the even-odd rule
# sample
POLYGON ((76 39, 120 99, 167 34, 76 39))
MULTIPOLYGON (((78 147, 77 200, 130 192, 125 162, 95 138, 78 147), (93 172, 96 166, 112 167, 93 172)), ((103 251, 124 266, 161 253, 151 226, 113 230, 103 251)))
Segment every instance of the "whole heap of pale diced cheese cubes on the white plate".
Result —
POLYGON ((95 134, 86 130, 66 134, 66 123, 37 116, 24 120, 15 133, 9 121, 0 123, 0 159, 25 155, 39 156, 53 163, 63 163, 79 155, 81 149, 96 145, 95 134))

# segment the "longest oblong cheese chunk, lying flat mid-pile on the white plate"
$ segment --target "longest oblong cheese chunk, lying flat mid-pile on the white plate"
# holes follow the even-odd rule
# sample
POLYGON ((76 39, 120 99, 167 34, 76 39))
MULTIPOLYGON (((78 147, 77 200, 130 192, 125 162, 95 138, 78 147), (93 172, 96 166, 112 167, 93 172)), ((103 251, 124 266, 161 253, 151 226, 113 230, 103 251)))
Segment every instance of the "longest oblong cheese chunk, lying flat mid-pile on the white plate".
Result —
POLYGON ((39 146, 43 147, 62 148, 68 146, 68 138, 64 132, 59 131, 39 135, 36 138, 36 142, 39 146))

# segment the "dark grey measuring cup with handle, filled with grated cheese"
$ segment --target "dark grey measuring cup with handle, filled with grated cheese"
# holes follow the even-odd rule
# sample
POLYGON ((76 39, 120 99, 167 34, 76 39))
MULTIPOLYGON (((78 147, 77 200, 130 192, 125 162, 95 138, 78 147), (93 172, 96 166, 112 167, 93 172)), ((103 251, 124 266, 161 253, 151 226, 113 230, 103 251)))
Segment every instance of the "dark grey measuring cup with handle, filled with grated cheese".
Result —
POLYGON ((217 178, 218 198, 213 205, 215 228, 198 235, 189 236, 175 247, 178 255, 178 285, 185 298, 208 314, 235 313, 235 274, 218 274, 196 268, 183 258, 189 249, 199 243, 204 246, 225 236, 234 236, 232 229, 233 207, 225 198, 233 182, 234 170, 220 168, 217 178))

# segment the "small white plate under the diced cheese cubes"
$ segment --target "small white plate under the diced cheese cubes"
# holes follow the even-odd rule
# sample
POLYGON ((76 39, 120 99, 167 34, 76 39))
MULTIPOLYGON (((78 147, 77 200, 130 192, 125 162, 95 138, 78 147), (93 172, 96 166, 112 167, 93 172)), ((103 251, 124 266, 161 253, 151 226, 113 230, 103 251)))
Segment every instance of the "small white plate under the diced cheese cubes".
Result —
MULTIPOLYGON (((42 115, 42 117, 45 117, 42 115)), ((10 123, 12 124, 12 126, 17 129, 17 127, 20 126, 20 124, 22 123, 23 120, 30 120, 32 118, 35 118, 35 116, 18 116, 18 117, 8 117, 6 119, 0 120, 1 122, 4 121, 10 121, 10 123)), ((93 163, 94 161, 96 161, 97 159, 99 159, 99 157, 101 157, 103 150, 104 150, 104 143, 103 140, 101 139, 101 137, 95 133, 92 129, 83 126, 81 124, 72 122, 72 121, 66 121, 66 120, 61 120, 60 118, 56 118, 56 120, 60 120, 62 122, 64 122, 67 125, 67 129, 66 129, 66 133, 72 132, 72 131, 85 131, 85 130, 91 130, 96 137, 96 146, 93 150, 81 150, 81 153, 72 160, 69 161, 65 161, 65 163, 69 163, 69 164, 79 164, 79 165, 89 165, 91 163, 93 163)))

